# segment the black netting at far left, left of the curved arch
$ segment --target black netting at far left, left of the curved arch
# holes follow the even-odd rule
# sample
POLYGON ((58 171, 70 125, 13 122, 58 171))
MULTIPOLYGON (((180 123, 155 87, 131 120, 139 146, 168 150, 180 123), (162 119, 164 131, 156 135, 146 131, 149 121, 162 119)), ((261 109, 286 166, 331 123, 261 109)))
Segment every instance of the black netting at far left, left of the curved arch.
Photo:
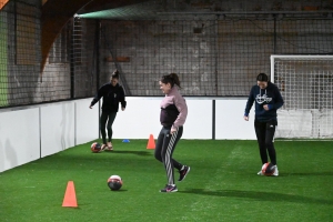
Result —
POLYGON ((36 102, 40 77, 40 10, 20 1, 0 11, 0 107, 36 102))

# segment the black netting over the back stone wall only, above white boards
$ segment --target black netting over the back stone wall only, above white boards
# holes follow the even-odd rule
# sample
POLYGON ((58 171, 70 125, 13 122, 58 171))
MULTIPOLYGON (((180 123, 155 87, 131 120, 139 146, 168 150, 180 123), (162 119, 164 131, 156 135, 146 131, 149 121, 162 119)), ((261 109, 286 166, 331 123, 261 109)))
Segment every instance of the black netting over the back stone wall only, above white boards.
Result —
POLYGON ((248 95, 258 73, 270 74, 271 54, 332 51, 327 19, 230 14, 101 23, 102 79, 120 68, 131 95, 159 95, 160 77, 171 72, 180 75, 185 95, 248 95))

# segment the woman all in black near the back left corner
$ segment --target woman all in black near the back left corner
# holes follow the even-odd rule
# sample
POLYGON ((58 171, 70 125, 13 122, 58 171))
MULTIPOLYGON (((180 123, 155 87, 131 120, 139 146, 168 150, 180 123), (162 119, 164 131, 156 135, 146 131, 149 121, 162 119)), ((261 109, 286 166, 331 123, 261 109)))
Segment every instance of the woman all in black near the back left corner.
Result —
POLYGON ((112 145, 112 123, 115 119, 117 112, 119 110, 119 103, 121 103, 121 110, 124 111, 127 107, 125 94, 123 88, 119 82, 119 71, 114 70, 111 74, 110 82, 103 84, 99 90, 93 100, 91 101, 89 108, 92 107, 103 98, 102 114, 100 118, 100 131, 102 134, 103 144, 101 150, 113 150, 112 145), (108 125, 107 125, 108 122, 108 125), (107 132, 108 129, 108 142, 107 132))

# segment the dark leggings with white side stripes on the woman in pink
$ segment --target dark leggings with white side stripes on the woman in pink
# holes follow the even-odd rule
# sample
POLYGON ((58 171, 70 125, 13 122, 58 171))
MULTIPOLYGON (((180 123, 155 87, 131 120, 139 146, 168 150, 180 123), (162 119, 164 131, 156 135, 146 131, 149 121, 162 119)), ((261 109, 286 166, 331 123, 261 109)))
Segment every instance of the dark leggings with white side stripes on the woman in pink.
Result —
POLYGON ((174 184, 173 168, 181 170, 182 164, 172 159, 174 148, 183 134, 183 127, 170 134, 171 127, 163 127, 155 145, 155 159, 164 164, 168 184, 174 184))

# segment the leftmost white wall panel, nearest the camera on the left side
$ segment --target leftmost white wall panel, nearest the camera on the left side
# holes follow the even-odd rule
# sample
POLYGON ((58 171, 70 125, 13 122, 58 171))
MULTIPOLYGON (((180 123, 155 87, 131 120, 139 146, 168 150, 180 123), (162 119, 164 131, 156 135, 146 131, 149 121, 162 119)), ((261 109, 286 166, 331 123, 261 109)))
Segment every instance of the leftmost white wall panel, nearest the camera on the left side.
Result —
POLYGON ((0 172, 39 158, 39 108, 0 112, 0 172))

